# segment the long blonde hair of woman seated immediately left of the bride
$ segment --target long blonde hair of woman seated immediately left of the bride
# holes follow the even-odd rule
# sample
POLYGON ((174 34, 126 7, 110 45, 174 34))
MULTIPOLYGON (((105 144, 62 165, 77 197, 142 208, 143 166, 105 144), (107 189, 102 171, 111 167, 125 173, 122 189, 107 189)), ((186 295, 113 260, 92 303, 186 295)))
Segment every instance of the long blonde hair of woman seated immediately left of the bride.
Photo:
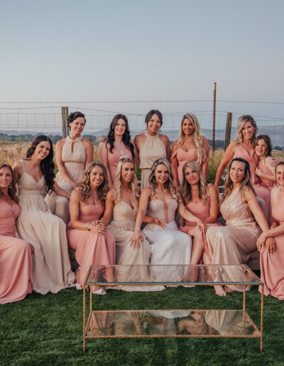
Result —
POLYGON ((121 202, 121 190, 123 189, 122 182, 121 182, 121 169, 122 165, 126 162, 131 162, 134 167, 134 177, 132 178, 131 182, 129 183, 129 187, 131 188, 133 200, 135 201, 135 204, 138 205, 139 202, 139 193, 138 193, 138 184, 137 184, 137 177, 136 177, 136 165, 133 160, 128 156, 121 156, 119 159, 119 163, 116 167, 116 177, 114 181, 114 190, 116 191, 114 195, 114 201, 116 204, 119 204, 121 202))

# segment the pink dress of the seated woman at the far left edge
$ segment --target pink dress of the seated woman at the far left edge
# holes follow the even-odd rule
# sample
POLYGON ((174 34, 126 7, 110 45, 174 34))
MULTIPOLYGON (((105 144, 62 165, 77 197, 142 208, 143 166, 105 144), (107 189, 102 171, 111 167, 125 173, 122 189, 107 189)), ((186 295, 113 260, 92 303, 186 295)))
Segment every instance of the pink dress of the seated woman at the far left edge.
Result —
POLYGON ((33 258, 26 240, 16 238, 20 209, 0 201, 0 304, 22 300, 33 290, 33 258))

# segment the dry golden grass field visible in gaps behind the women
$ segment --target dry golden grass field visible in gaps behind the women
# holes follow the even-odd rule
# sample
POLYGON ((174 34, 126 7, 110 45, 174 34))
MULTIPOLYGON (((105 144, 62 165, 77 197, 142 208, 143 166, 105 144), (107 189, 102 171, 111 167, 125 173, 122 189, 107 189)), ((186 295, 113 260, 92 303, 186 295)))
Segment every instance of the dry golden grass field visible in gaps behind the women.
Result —
MULTIPOLYGON (((26 156, 26 150, 28 150, 31 143, 18 143, 11 141, 0 141, 0 162, 8 162, 13 165, 17 160, 26 156)), ((214 153, 210 151, 210 160, 208 167, 208 182, 214 182, 214 177, 219 166, 219 162, 222 159, 224 150, 218 149, 214 153)), ((273 150, 273 156, 279 160, 284 160, 284 151, 273 150)), ((94 146, 94 160, 99 160, 98 147, 94 146)), ((55 170, 57 170, 55 164, 55 170)))

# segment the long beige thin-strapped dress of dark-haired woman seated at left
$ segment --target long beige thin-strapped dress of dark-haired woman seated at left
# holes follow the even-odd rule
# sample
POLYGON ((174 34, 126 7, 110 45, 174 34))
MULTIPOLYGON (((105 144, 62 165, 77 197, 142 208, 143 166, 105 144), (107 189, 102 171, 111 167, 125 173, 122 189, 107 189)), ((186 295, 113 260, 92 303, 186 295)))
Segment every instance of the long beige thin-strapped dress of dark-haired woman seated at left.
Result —
POLYGON ((41 194, 44 176, 36 182, 25 172, 18 179, 18 204, 21 212, 16 228, 21 239, 31 243, 33 253, 33 290, 40 294, 57 293, 74 282, 67 250, 66 226, 50 213, 41 194))

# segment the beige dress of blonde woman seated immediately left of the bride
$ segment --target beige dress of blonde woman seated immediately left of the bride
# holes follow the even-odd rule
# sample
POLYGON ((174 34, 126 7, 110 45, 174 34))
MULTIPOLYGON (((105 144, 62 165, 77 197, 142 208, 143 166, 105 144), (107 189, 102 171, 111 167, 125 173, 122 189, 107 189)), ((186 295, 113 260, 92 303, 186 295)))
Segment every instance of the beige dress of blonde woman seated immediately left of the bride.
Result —
MULTIPOLYGON (((109 223, 109 232, 114 235, 116 242, 116 265, 149 265, 151 255, 151 245, 148 240, 144 238, 140 243, 139 248, 131 248, 130 239, 133 235, 136 216, 138 213, 138 206, 133 209, 129 204, 124 201, 114 205, 112 212, 112 220, 109 223)), ((148 267, 129 267, 119 269, 117 273, 117 279, 119 282, 129 282, 137 280, 138 282, 151 281, 151 273, 148 267), (138 269, 137 269, 138 268, 138 269)), ((164 287, 129 287, 124 286, 121 289, 125 291, 160 291, 164 287)))

